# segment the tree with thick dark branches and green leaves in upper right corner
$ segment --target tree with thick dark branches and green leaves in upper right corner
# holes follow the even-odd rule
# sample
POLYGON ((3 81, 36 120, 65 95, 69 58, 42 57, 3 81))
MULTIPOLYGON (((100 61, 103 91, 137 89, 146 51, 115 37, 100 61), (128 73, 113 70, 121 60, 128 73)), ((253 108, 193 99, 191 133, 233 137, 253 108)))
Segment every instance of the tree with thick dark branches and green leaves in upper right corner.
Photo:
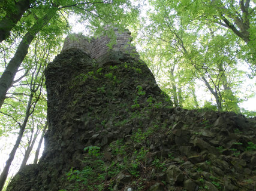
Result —
MULTIPOLYGON (((191 24, 211 24, 228 29, 233 37, 240 40, 240 58, 252 67, 256 66, 256 7, 251 0, 161 0, 161 4, 171 7, 191 24), (244 43, 245 42, 245 43, 244 43)), ((255 72, 254 72, 255 75, 255 72)))

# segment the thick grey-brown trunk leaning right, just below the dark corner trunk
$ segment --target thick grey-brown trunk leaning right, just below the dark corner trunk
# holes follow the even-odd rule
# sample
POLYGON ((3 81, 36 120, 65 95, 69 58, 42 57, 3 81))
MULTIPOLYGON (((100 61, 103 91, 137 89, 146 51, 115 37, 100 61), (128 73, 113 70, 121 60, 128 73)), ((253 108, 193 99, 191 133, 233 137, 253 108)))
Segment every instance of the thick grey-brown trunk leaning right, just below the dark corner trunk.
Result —
MULTIPOLYGON (((57 8, 56 6, 54 8, 57 8)), ((23 37, 22 41, 17 48, 14 57, 11 58, 10 62, 8 63, 4 73, 0 78, 0 109, 2 104, 5 100, 5 95, 8 89, 11 87, 13 83, 14 76, 17 73, 17 70, 20 67, 20 64, 24 60, 26 54, 28 53, 29 45, 31 44, 32 40, 35 38, 35 35, 52 19, 54 14, 56 13, 57 9, 50 10, 43 18, 38 19, 37 23, 29 29, 29 32, 23 37)))

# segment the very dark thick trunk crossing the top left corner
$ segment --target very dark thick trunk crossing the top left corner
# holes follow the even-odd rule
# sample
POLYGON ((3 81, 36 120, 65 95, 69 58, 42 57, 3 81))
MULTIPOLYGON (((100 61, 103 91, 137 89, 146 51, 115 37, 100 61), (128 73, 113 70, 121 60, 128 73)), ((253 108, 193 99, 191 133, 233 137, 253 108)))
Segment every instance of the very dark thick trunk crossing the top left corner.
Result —
POLYGON ((0 20, 0 42, 4 41, 10 36, 11 29, 13 29, 25 11, 29 9, 31 3, 34 1, 35 0, 14 1, 15 4, 13 11, 11 13, 7 13, 5 17, 0 20))

